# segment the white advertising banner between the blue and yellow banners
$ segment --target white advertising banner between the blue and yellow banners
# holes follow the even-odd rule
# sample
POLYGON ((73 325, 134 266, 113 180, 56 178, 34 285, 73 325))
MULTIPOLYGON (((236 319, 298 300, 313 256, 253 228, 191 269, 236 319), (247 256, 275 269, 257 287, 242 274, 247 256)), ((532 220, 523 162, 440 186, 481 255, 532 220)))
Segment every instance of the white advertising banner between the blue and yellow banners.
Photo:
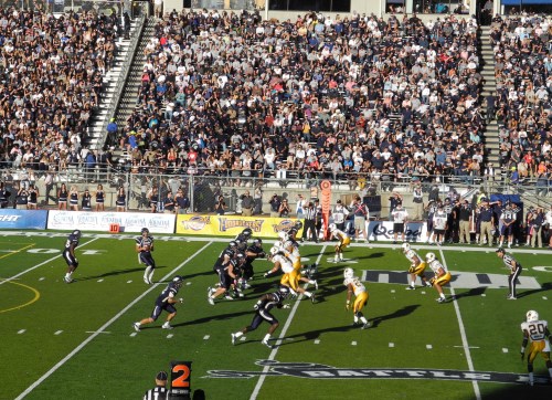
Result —
POLYGON ((142 228, 151 233, 174 233, 174 214, 146 212, 91 212, 59 211, 47 213, 47 229, 82 231, 109 231, 109 225, 118 223, 121 232, 140 232, 142 228))

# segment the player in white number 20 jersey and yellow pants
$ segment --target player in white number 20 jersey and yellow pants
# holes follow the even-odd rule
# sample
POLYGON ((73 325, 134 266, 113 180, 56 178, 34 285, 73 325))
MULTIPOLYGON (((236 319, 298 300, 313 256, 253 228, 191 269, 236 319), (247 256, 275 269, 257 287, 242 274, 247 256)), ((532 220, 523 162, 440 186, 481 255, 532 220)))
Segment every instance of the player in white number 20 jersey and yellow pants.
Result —
POLYGON ((552 336, 550 335, 548 322, 539 319, 539 313, 534 310, 527 312, 527 322, 521 323, 523 331, 523 343, 521 344, 521 360, 526 357, 526 347, 528 341, 529 352, 527 355, 527 370, 529 372, 529 385, 533 386, 533 361, 541 354, 550 375, 552 382, 552 361, 550 360, 550 346, 552 345, 552 336), (548 338, 548 340, 546 340, 548 338))

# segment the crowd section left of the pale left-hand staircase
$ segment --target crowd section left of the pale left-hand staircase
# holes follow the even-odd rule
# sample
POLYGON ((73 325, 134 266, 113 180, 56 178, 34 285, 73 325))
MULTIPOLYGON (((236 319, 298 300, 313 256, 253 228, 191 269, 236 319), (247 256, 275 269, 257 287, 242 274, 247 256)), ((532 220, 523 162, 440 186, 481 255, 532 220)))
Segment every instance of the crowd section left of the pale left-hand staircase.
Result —
POLYGON ((86 160, 81 143, 113 65, 117 24, 91 12, 55 18, 40 4, 0 8, 0 168, 59 171, 86 160))

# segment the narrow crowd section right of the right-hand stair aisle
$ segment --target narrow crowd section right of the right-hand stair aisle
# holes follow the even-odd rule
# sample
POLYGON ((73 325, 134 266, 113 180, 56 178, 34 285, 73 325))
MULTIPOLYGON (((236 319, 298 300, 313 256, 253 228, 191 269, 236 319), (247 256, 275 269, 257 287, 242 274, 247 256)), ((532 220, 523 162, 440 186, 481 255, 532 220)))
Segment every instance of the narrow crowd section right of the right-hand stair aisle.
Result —
POLYGON ((534 178, 543 191, 552 178, 551 30, 550 17, 522 13, 495 15, 490 32, 500 162, 514 182, 534 178))

